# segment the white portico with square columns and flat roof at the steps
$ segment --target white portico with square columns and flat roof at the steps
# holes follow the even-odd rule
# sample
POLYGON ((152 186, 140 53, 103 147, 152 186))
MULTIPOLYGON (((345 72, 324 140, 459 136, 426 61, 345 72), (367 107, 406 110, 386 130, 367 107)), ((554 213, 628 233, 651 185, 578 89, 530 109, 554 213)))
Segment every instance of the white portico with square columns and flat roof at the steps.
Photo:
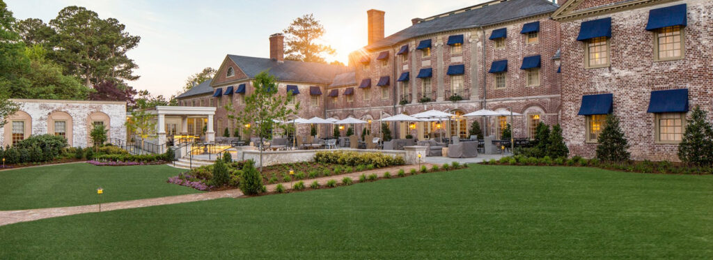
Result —
POLYGON ((156 115, 158 144, 166 144, 167 135, 195 134, 200 136, 203 127, 205 127, 205 142, 215 141, 215 131, 213 130, 215 107, 156 106, 147 112, 156 115))

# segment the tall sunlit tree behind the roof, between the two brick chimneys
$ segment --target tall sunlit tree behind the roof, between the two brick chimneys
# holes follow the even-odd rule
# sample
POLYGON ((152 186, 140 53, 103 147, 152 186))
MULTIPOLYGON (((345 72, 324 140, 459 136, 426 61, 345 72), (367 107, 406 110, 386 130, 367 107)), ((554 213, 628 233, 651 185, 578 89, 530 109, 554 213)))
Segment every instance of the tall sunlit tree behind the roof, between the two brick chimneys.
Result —
POLYGON ((324 36, 324 26, 312 14, 294 19, 283 32, 287 39, 287 51, 284 51, 287 57, 284 59, 327 63, 324 54, 334 55, 336 52, 332 46, 319 44, 320 38, 324 36))

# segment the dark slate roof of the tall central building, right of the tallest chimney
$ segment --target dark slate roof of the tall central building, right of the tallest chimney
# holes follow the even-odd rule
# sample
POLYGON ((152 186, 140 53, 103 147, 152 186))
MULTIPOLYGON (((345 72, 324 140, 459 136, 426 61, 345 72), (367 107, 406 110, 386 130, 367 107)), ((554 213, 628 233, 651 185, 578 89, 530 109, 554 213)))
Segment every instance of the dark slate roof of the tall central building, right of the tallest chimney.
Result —
POLYGON ((508 0, 498 4, 483 6, 481 8, 438 17, 430 21, 421 21, 409 26, 396 34, 391 34, 384 39, 374 42, 365 49, 378 49, 381 47, 398 44, 407 39, 435 34, 442 31, 458 29, 471 29, 479 26, 498 24, 504 21, 520 19, 539 14, 548 14, 557 10, 559 6, 547 0, 508 0))

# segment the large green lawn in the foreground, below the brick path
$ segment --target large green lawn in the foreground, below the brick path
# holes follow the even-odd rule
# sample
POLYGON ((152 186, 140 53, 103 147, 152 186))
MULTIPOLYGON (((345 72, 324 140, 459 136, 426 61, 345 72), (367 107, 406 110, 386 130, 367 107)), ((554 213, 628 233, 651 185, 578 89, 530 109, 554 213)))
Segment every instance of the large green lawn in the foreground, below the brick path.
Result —
POLYGON ((709 259, 713 176, 479 166, 0 226, 0 259, 709 259))

